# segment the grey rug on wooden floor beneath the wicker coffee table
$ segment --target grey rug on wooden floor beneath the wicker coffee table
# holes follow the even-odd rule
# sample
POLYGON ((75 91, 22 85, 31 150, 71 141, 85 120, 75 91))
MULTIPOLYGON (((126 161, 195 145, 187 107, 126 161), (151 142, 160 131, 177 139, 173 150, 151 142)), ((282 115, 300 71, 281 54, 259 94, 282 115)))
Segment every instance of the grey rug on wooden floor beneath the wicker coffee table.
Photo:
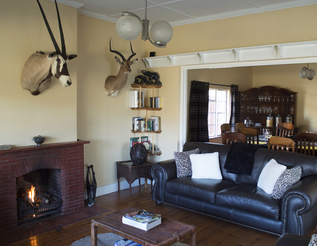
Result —
MULTIPOLYGON (((123 238, 124 237, 121 237, 111 232, 97 234, 97 246, 114 246, 115 242, 123 238)), ((91 246, 91 245, 92 245, 91 236, 87 236, 86 238, 82 238, 71 244, 71 246, 91 246)), ((178 243, 172 244, 172 246, 189 246, 189 245, 178 242, 178 243)))

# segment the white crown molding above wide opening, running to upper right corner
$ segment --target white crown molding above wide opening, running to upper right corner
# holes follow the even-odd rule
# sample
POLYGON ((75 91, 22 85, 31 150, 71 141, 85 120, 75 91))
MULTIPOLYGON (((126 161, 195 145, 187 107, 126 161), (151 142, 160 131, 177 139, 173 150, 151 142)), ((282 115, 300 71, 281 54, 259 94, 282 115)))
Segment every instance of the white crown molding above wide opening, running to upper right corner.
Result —
POLYGON ((275 4, 275 5, 270 5, 270 6, 233 11, 233 12, 228 12, 228 13, 223 13, 223 14, 209 15, 209 16, 204 16, 204 17, 199 17, 199 18, 194 18, 194 19, 188 19, 188 20, 184 20, 184 21, 175 21, 175 22, 170 22, 169 24, 172 27, 175 27, 175 26, 199 23, 199 22, 204 22, 204 21, 213 21, 213 20, 231 18, 231 17, 236 17, 236 16, 242 16, 242 15, 249 15, 249 14, 256 14, 256 13, 280 10, 280 9, 285 9, 285 8, 294 8, 294 7, 306 6, 306 5, 311 5, 311 4, 317 4, 317 0, 298 0, 298 1, 287 2, 287 3, 279 3, 279 4, 275 4))

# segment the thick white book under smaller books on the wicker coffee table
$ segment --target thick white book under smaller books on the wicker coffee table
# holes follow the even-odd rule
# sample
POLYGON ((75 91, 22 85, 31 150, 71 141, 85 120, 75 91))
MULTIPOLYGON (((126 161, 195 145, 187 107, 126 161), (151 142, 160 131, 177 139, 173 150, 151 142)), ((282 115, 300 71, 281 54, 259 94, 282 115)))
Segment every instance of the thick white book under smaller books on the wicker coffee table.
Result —
POLYGON ((135 211, 122 216, 122 223, 148 231, 161 223, 161 216, 155 214, 152 218, 136 217, 139 211, 135 211))

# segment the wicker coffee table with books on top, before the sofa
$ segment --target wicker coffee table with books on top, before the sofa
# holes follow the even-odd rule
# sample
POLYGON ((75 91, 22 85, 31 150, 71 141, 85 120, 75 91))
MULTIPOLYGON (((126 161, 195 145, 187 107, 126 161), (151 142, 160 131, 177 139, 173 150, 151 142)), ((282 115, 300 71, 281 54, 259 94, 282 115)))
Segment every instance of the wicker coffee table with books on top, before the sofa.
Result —
POLYGON ((92 246, 97 246, 97 227, 104 228, 143 246, 170 246, 187 236, 190 236, 191 246, 196 246, 197 228, 195 225, 162 217, 161 224, 144 231, 122 223, 123 215, 137 210, 129 207, 110 215, 92 219, 92 246))

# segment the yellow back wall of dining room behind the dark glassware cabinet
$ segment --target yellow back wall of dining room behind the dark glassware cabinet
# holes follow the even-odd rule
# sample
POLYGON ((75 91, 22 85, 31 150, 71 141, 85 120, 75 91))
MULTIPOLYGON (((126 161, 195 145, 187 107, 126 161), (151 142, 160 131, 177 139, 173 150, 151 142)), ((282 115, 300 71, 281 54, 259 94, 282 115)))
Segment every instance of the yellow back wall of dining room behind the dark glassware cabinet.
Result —
MULTIPOLYGON (((299 71, 306 64, 287 64, 271 66, 254 66, 253 87, 275 86, 296 93, 295 126, 300 132, 317 131, 316 95, 317 86, 313 80, 302 79, 299 71)), ((309 68, 317 71, 317 63, 310 63, 309 68)))

